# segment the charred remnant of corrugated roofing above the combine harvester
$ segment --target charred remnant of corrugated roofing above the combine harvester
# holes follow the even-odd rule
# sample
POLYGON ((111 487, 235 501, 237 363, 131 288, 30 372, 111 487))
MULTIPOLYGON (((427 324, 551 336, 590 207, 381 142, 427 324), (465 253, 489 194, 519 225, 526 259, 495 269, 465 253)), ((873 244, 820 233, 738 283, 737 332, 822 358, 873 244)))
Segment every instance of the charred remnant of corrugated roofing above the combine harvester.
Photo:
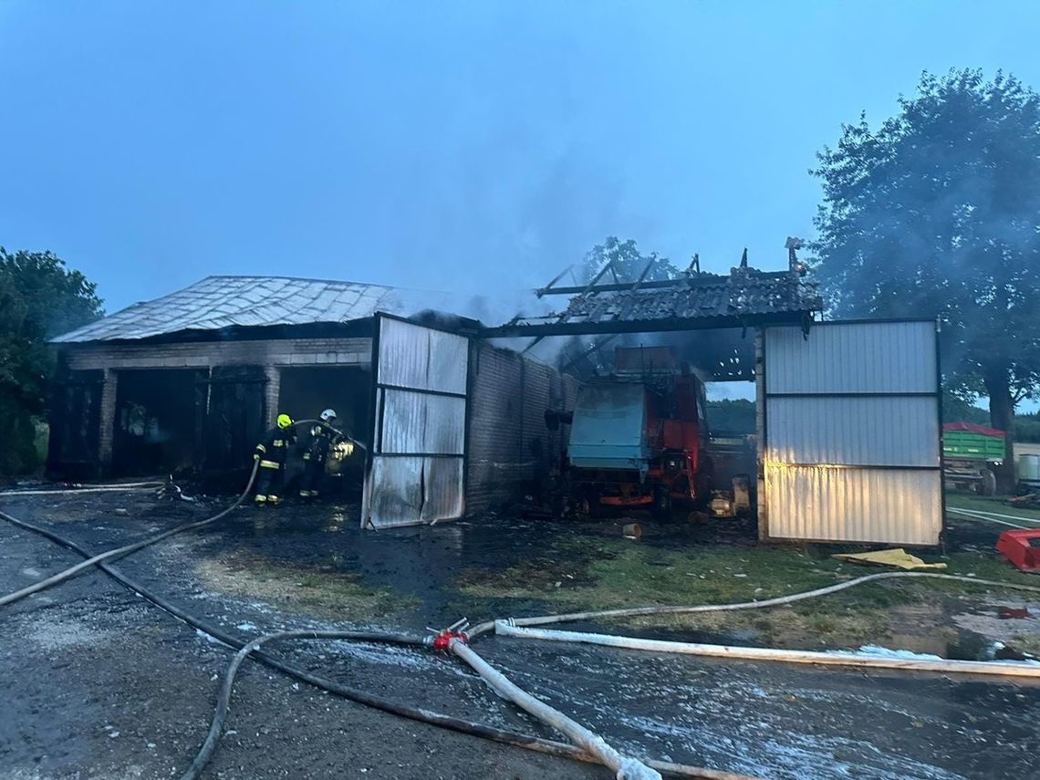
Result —
POLYGON ((568 322, 629 322, 822 309, 817 285, 796 274, 734 268, 729 276, 692 277, 687 286, 575 296, 561 314, 568 322))

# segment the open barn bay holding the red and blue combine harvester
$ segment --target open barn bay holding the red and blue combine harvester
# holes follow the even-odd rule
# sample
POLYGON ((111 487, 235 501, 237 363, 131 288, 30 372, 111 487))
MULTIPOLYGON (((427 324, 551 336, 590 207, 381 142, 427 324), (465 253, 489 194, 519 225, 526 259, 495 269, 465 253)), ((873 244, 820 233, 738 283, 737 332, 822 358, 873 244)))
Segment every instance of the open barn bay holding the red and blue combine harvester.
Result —
POLYGON ((583 363, 564 458, 579 514, 754 517, 754 329, 615 335, 570 350, 583 363))

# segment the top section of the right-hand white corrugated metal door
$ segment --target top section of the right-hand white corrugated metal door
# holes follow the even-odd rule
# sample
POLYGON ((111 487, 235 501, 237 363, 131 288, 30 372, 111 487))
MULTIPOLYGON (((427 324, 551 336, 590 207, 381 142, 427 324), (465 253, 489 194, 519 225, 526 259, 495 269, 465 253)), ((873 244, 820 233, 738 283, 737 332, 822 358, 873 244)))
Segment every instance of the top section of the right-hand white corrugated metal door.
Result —
POLYGON ((935 323, 834 322, 765 331, 769 393, 931 393, 935 323))

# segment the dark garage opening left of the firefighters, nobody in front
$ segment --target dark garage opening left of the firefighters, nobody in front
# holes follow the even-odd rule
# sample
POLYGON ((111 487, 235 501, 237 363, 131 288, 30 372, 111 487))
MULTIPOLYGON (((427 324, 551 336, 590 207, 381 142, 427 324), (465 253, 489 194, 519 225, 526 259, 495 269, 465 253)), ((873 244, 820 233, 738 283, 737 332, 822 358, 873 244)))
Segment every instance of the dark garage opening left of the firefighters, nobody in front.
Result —
POLYGON ((202 458, 205 372, 121 370, 116 374, 112 475, 176 474, 202 458))

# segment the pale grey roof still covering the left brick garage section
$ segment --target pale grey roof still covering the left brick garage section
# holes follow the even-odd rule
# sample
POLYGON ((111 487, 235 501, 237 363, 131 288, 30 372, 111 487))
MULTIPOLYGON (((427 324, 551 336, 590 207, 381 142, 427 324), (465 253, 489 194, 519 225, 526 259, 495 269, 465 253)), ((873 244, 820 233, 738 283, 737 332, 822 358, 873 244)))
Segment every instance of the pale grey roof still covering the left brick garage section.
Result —
POLYGON ((446 293, 288 277, 207 277, 168 295, 134 304, 53 339, 56 343, 144 339, 232 326, 347 322, 378 311, 411 316, 449 305, 446 293))

